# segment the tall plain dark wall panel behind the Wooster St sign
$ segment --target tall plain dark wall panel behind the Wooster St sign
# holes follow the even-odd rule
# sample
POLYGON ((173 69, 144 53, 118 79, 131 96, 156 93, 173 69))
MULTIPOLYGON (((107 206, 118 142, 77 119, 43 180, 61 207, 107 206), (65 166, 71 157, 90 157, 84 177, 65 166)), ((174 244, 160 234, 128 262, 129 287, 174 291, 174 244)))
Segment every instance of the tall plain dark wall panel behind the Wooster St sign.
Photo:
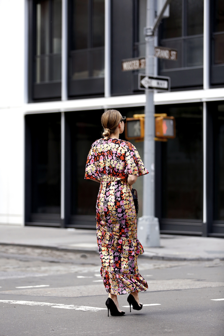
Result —
POLYGON ((122 59, 133 48, 132 1, 113 0, 111 8, 111 94, 132 93, 132 71, 122 72, 122 59))

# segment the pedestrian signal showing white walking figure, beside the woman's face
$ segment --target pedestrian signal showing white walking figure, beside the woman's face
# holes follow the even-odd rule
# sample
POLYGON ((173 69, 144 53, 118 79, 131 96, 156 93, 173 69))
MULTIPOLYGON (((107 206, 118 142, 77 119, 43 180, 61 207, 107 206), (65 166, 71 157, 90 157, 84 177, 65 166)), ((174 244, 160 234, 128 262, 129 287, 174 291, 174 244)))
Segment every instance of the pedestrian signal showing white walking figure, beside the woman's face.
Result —
POLYGON ((125 138, 127 140, 144 139, 144 118, 126 118, 125 138))

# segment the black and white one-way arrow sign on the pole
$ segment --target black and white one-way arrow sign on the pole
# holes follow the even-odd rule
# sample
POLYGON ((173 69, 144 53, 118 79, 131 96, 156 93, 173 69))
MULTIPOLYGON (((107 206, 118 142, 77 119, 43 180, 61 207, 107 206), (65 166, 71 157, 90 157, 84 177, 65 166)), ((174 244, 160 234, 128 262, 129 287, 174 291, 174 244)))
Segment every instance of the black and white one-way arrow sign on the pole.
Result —
POLYGON ((145 74, 138 74, 138 89, 170 91, 170 77, 147 76, 145 74))

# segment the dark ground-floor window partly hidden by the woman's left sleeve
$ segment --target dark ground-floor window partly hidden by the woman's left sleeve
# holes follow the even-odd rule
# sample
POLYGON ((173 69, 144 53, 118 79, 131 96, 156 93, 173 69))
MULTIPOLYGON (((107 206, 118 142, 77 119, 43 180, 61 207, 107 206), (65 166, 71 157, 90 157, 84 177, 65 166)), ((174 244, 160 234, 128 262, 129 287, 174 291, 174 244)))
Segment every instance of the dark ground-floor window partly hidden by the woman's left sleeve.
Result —
POLYGON ((96 215, 99 183, 85 180, 84 175, 91 144, 102 137, 100 123, 102 113, 101 110, 72 112, 66 116, 71 129, 72 215, 96 215))

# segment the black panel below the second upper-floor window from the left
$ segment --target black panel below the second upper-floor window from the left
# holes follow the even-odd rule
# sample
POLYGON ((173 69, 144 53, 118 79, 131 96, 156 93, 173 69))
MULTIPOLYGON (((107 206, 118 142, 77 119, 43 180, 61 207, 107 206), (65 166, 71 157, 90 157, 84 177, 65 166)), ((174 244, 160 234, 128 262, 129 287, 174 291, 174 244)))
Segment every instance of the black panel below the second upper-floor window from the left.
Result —
POLYGON ((104 78, 86 78, 69 83, 69 96, 104 94, 104 78))

